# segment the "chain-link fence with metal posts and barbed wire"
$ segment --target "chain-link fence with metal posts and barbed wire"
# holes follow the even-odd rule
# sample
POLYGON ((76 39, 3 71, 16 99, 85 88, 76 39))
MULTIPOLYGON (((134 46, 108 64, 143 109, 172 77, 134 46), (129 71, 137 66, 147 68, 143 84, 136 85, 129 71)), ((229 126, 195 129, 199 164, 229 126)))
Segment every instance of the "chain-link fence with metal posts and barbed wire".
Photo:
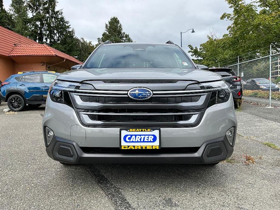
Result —
POLYGON ((266 56, 223 65, 241 77, 244 101, 280 107, 280 53, 272 52, 270 46, 266 56))

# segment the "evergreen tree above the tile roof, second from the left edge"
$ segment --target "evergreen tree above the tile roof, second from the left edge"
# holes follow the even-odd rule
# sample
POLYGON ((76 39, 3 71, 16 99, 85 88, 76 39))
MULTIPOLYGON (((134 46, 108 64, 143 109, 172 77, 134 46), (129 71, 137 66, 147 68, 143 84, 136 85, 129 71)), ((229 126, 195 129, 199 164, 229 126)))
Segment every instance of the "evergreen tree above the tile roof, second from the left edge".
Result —
POLYGON ((25 37, 29 37, 29 17, 25 0, 12 0, 10 5, 11 15, 15 21, 13 31, 25 37))

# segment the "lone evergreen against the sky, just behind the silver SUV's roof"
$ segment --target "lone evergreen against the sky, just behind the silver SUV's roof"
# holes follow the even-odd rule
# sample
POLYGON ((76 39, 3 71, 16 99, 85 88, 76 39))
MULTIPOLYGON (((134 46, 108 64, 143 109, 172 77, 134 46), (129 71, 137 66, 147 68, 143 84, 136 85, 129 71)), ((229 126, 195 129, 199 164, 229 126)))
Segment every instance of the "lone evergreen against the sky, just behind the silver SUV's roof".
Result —
POLYGON ((101 38, 97 38, 98 44, 102 44, 107 40, 110 40, 113 43, 119 42, 133 42, 129 34, 123 32, 123 26, 120 24, 120 21, 117 17, 112 17, 108 24, 105 23, 105 31, 102 34, 101 38))

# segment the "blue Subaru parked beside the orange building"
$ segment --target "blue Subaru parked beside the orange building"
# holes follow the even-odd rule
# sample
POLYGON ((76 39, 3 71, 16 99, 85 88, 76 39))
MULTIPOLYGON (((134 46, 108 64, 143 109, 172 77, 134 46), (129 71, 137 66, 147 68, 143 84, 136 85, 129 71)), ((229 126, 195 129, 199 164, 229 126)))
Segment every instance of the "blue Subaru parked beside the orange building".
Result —
POLYGON ((33 71, 14 74, 0 85, 0 99, 12 111, 21 111, 26 104, 39 107, 46 103, 48 90, 58 73, 33 71))

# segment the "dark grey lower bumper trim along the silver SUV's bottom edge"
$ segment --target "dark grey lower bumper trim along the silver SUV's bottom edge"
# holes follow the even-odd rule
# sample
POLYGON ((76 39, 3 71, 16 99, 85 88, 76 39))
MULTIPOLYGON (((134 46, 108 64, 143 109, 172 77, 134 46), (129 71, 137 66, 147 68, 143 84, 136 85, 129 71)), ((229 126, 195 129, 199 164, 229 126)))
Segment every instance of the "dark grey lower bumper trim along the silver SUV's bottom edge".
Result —
POLYGON ((196 153, 124 154, 121 153, 121 150, 120 153, 84 153, 77 143, 59 137, 54 137, 51 144, 46 147, 46 151, 48 156, 54 160, 74 164, 207 164, 220 162, 229 158, 232 155, 233 147, 229 145, 226 137, 221 137, 205 142, 196 153), (63 152, 61 152, 61 148, 64 149, 63 152), (61 155, 62 153, 63 155, 61 155))

